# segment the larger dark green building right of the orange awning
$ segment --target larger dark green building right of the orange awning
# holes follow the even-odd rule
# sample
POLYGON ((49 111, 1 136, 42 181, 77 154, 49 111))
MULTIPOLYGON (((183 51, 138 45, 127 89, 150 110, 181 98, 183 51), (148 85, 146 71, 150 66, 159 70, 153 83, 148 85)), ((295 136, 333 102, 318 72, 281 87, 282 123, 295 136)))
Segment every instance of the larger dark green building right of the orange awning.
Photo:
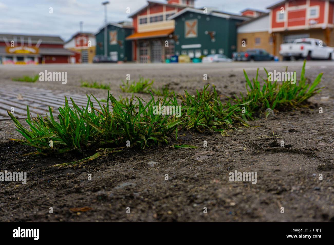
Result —
POLYGON ((185 8, 172 15, 175 20, 175 54, 199 58, 202 55, 236 51, 236 24, 248 17, 207 9, 185 8))

